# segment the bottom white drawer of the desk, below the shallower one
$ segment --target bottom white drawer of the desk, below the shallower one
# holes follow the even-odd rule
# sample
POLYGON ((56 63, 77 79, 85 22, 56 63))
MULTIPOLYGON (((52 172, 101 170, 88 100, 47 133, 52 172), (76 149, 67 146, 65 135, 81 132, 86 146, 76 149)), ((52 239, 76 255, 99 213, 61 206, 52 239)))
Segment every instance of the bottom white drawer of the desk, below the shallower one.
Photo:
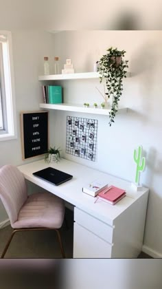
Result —
POLYGON ((111 258, 112 246, 74 223, 73 258, 111 258))

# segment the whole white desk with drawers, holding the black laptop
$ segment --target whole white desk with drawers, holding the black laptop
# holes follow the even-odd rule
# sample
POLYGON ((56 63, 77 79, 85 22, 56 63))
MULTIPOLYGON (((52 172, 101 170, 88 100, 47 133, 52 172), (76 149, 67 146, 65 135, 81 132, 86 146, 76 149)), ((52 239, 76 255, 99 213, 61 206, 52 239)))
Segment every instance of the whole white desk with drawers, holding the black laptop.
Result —
POLYGON ((18 168, 30 182, 75 206, 74 258, 132 258, 139 255, 143 244, 148 189, 135 192, 130 182, 65 159, 55 164, 39 160, 18 168), (32 175, 34 171, 46 167, 65 171, 73 178, 60 186, 54 186, 32 175), (95 198, 82 193, 82 186, 98 178, 126 189, 126 197, 114 206, 102 200, 94 204, 95 198))

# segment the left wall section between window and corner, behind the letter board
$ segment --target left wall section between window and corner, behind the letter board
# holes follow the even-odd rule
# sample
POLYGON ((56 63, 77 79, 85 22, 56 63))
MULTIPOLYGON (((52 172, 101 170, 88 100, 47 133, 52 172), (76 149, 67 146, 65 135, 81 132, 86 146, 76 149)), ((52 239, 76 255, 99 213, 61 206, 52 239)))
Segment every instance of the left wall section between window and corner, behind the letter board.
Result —
MULTIPOLYGON (((39 110, 39 103, 43 96, 38 75, 43 74, 43 57, 49 56, 51 59, 54 56, 53 47, 53 34, 33 30, 12 31, 18 138, 0 142, 0 167, 3 164, 19 165, 39 159, 22 160, 20 112, 39 110)), ((50 114, 50 120, 52 118, 53 116, 50 114)), ((51 131, 51 126, 49 131, 51 131)), ((33 188, 38 190, 36 186, 30 186, 31 192, 33 188)), ((8 216, 0 201, 0 227, 7 218, 8 216)))

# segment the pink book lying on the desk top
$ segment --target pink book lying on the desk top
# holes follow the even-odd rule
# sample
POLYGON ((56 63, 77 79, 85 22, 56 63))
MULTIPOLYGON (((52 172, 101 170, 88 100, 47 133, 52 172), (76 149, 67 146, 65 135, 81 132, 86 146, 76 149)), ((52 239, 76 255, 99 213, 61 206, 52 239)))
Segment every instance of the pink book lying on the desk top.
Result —
POLYGON ((109 202, 115 203, 115 201, 121 200, 122 196, 126 195, 126 191, 117 188, 117 186, 109 186, 108 188, 102 190, 98 197, 101 197, 109 202))

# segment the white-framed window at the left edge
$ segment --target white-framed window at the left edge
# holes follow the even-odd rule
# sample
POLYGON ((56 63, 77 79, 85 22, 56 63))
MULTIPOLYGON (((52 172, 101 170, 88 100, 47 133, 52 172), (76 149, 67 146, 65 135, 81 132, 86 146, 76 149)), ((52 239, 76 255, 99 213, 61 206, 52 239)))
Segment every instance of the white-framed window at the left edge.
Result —
POLYGON ((16 138, 11 32, 0 31, 0 141, 16 138))

